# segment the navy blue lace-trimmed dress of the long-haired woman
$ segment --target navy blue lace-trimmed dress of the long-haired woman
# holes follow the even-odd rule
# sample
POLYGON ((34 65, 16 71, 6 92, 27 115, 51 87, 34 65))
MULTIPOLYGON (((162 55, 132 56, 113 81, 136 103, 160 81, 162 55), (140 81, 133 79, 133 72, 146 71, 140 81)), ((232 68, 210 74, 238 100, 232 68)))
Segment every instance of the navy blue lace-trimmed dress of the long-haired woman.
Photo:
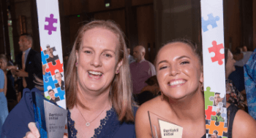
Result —
MULTIPOLYGON (((28 124, 29 122, 34 122, 34 109, 32 102, 31 92, 37 92, 43 94, 42 91, 38 89, 29 89, 23 90, 23 97, 12 109, 10 115, 8 115, 6 121, 4 122, 4 126, 1 131, 2 138, 15 138, 15 137, 24 137, 26 132, 29 131, 28 124)), ((137 111, 137 107, 135 107, 135 112, 137 111)), ((113 110, 108 111, 108 120, 105 120, 105 126, 100 129, 100 133, 97 134, 97 137, 135 137, 135 125, 134 123, 120 123, 117 120, 116 112, 113 110), (104 130, 103 130, 104 129, 104 130)), ((70 121, 70 113, 68 117, 68 131, 75 130, 74 122, 70 121), (71 122, 71 123, 70 123, 71 122)), ((101 122, 102 123, 102 122, 101 122)), ((99 132, 99 129, 97 130, 99 132)), ((69 137, 70 138, 70 137, 69 137)))

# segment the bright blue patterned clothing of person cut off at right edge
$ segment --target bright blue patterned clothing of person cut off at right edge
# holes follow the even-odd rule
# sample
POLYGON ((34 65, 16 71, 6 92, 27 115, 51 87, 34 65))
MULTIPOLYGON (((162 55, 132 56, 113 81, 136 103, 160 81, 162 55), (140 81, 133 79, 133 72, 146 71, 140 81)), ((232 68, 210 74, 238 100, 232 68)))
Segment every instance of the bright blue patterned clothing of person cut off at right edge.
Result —
POLYGON ((244 85, 249 115, 256 120, 256 49, 244 65, 244 85))

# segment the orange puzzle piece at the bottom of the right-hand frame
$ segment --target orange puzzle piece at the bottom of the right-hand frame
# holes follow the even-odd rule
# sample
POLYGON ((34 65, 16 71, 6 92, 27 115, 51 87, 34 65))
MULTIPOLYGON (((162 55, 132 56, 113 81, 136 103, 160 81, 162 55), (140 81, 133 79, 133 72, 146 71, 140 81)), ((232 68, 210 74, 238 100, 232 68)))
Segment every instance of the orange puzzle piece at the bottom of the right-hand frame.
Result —
POLYGON ((222 136, 223 132, 227 132, 227 128, 224 127, 225 123, 224 122, 219 122, 219 126, 215 125, 215 121, 211 121, 211 124, 208 125, 206 124, 206 129, 209 129, 208 134, 214 134, 214 130, 218 131, 218 135, 222 136))

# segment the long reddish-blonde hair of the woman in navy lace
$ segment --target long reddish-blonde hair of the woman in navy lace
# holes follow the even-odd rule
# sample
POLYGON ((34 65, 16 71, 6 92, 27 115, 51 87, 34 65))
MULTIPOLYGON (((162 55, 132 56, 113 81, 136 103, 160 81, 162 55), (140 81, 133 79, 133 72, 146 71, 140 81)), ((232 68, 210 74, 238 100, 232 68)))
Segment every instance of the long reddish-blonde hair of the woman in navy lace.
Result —
POLYGON ((134 115, 132 107, 134 101, 132 98, 132 81, 129 72, 128 52, 127 45, 124 39, 124 33, 121 28, 110 20, 94 20, 86 25, 83 25, 78 31, 78 36, 75 38, 75 44, 73 45, 72 52, 70 53, 69 60, 67 62, 67 69, 65 71, 65 86, 67 95, 67 107, 71 109, 74 105, 78 104, 81 107, 86 108, 86 105, 78 98, 78 73, 75 63, 76 52, 79 51, 83 35, 86 31, 93 28, 103 28, 116 34, 118 38, 118 62, 123 60, 123 64, 119 69, 119 74, 115 75, 109 94, 110 100, 113 104, 116 113, 118 114, 119 121, 134 121, 134 115))

